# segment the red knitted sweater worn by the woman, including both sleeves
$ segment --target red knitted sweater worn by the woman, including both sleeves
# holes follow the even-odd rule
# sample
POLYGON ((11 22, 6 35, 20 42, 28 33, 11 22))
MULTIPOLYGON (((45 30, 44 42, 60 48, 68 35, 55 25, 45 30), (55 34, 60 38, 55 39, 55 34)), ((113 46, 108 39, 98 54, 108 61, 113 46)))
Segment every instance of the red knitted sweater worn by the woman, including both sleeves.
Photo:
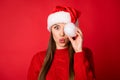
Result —
MULTIPOLYGON (((46 51, 33 56, 27 80, 38 80, 46 51)), ((88 61, 84 58, 84 52, 74 54, 74 80, 93 80, 91 71, 87 71, 88 61)), ((69 79, 69 53, 68 49, 57 49, 55 51, 52 65, 46 76, 46 80, 68 80, 69 79)))

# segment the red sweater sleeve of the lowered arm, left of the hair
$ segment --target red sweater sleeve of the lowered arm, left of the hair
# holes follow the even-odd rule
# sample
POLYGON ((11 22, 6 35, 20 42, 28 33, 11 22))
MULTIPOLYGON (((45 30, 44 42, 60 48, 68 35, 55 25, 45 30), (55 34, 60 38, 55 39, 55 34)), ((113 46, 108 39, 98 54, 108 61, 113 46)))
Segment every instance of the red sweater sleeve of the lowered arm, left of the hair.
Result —
POLYGON ((38 80, 38 75, 42 67, 42 56, 40 53, 37 53, 33 56, 31 64, 28 69, 27 80, 38 80))

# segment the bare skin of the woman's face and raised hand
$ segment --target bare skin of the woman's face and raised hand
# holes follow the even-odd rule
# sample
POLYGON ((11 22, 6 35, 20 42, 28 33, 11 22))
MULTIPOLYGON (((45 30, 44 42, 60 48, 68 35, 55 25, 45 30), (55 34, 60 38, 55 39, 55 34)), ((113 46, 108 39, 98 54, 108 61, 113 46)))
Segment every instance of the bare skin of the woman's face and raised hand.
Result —
POLYGON ((64 26, 65 23, 58 23, 54 24, 51 28, 51 32, 53 34, 53 39, 56 43, 57 49, 64 49, 68 47, 68 42, 70 41, 72 43, 73 49, 75 52, 82 52, 82 43, 83 43, 83 35, 79 28, 77 28, 76 37, 73 39, 70 36, 67 36, 64 33, 64 26), (60 42, 60 40, 63 40, 63 42, 60 42))

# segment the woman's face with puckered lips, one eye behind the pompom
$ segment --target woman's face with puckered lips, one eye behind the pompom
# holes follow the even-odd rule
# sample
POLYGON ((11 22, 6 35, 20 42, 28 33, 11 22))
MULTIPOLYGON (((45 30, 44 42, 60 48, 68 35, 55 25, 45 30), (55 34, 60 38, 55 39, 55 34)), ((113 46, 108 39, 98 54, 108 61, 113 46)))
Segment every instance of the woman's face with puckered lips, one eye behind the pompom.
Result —
POLYGON ((51 29, 57 49, 68 47, 69 39, 64 33, 64 25, 64 23, 54 24, 51 29))

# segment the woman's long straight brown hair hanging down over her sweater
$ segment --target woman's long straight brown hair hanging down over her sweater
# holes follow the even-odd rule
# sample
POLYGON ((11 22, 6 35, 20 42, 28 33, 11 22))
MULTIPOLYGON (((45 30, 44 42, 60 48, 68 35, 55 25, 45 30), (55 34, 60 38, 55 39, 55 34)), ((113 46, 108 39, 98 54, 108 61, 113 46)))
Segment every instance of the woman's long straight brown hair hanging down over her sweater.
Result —
MULTIPOLYGON (((50 69, 51 67, 51 63, 53 61, 53 58, 54 58, 54 52, 56 50, 56 44, 55 44, 55 41, 53 39, 53 35, 52 35, 52 32, 50 34, 50 39, 49 39, 49 44, 48 44, 48 49, 47 49, 47 52, 46 52, 46 56, 45 56, 45 59, 44 59, 44 62, 43 62, 43 66, 39 72, 39 76, 38 76, 38 80, 45 80, 46 79, 46 75, 47 75, 47 72, 48 70, 50 69)), ((74 64, 74 50, 73 50, 73 47, 71 45, 71 43, 69 42, 68 43, 68 50, 69 50, 69 80, 74 80, 74 67, 73 67, 73 64, 74 64)))

